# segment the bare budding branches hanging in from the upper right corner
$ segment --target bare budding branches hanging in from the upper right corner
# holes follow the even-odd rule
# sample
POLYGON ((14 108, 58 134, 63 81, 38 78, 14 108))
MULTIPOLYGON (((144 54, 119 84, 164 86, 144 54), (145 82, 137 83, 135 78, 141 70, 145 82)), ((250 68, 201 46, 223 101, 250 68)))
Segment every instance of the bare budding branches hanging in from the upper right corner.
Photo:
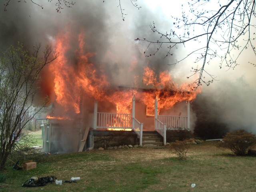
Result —
POLYGON ((152 22, 150 29, 159 36, 135 40, 148 43, 144 52, 146 56, 153 56, 166 49, 166 57, 175 56, 173 49, 179 48, 179 45, 186 46, 189 42, 194 42, 195 46, 189 48, 188 54, 180 59, 176 58, 170 64, 175 65, 192 55, 198 55, 194 59, 198 66, 192 67, 192 74, 187 77, 198 75, 190 84, 192 90, 202 84, 208 86, 216 80, 216 76, 206 70, 206 65, 213 60, 215 62, 218 59, 220 68, 226 66, 230 69, 239 64, 238 58, 244 50, 250 48, 252 54, 256 55, 255 0, 188 0, 187 6, 189 11, 183 8, 182 17, 173 17, 173 26, 169 32, 158 30, 152 22), (214 6, 208 6, 209 4, 214 6), (150 52, 152 48, 153 51, 150 52))

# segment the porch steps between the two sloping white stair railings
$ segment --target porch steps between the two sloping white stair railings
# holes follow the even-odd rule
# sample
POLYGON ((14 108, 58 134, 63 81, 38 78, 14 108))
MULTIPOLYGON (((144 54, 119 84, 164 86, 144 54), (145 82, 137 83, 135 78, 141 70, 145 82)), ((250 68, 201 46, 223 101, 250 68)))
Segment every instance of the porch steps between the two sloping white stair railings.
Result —
POLYGON ((162 136, 157 132, 143 132, 142 146, 163 146, 162 136))

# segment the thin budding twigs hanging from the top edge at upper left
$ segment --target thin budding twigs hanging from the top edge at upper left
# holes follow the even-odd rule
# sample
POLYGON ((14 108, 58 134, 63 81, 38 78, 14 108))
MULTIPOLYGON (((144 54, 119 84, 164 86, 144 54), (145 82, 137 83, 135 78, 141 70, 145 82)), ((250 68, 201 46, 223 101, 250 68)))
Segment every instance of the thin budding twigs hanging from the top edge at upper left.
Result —
MULTIPOLYGON (((13 0, 12 0, 13 1, 13 0)), ((73 1, 69 1, 69 0, 48 0, 48 2, 52 2, 52 1, 54 1, 54 4, 55 4, 55 6, 56 6, 56 11, 58 12, 58 13, 60 13, 60 11, 62 10, 62 9, 64 9, 64 7, 66 6, 66 7, 68 7, 68 8, 70 8, 70 7, 72 7, 72 6, 74 6, 74 4, 76 3, 76 2, 73 2, 73 1)), ((11 2, 11 0, 5 0, 5 3, 4 3, 4 11, 7 11, 7 6, 10 4, 10 2, 11 2)), ((17 2, 22 2, 21 0, 17 0, 17 2)), ((27 0, 23 0, 23 2, 27 2, 27 0)), ((35 0, 30 0, 30 2, 32 2, 33 4, 35 4, 35 5, 37 5, 37 6, 39 6, 40 8, 44 8, 44 6, 42 5, 42 4, 38 4, 35 0)), ((41 3, 41 2, 40 2, 41 3)))

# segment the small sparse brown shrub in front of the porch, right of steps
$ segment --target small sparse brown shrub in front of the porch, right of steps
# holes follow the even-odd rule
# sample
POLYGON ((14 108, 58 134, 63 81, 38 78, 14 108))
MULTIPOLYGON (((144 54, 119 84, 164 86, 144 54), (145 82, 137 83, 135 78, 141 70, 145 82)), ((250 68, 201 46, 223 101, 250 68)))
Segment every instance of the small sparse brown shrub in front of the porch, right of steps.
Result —
POLYGON ((181 160, 187 160, 187 152, 190 148, 191 140, 176 141, 170 144, 171 151, 176 154, 181 160))

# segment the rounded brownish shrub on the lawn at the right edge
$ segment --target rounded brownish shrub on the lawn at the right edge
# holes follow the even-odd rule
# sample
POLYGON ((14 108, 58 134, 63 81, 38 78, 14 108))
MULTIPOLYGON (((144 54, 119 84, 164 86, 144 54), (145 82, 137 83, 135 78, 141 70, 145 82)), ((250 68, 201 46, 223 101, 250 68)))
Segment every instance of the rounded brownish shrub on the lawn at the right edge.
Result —
POLYGON ((228 132, 223 141, 218 143, 218 147, 231 150, 237 156, 246 155, 250 148, 256 145, 256 136, 247 133, 245 130, 228 132))

